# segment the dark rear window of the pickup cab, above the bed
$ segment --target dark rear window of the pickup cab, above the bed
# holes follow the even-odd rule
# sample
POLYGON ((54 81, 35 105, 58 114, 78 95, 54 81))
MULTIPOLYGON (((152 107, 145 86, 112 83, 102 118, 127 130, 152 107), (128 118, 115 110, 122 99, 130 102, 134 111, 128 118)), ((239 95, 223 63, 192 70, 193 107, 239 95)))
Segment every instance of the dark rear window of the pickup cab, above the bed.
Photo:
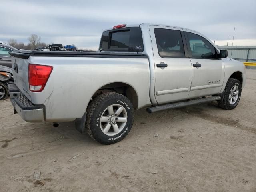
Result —
POLYGON ((105 31, 100 41, 100 51, 143 52, 140 27, 105 31))

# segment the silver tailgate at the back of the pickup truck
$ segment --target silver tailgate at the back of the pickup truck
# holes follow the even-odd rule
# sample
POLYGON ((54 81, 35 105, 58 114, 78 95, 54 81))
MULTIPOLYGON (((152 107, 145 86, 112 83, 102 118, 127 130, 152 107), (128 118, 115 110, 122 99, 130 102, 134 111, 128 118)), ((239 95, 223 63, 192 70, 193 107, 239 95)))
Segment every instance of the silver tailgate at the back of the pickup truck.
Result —
POLYGON ((20 89, 20 91, 29 99, 30 91, 28 84, 28 58, 30 54, 19 53, 19 52, 9 52, 15 57, 14 62, 12 62, 12 72, 14 83, 20 89))

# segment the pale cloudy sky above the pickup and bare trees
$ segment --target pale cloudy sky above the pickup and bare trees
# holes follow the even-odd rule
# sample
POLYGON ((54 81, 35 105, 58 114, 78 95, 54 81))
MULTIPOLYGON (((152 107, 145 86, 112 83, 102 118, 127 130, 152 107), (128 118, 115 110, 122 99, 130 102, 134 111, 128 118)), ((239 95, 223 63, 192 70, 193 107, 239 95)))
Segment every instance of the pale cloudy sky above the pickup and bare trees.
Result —
POLYGON ((75 44, 98 50, 102 31, 155 23, 196 30, 216 45, 256 46, 256 0, 1 0, 0 41, 75 44))

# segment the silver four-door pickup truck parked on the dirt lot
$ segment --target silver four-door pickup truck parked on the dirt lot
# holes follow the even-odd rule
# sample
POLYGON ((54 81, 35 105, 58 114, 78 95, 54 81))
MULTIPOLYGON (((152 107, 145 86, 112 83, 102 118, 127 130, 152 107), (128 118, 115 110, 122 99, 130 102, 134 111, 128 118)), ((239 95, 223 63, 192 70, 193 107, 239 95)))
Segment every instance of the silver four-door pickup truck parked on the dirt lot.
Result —
POLYGON ((75 121, 102 144, 122 140, 134 110, 149 113, 218 101, 234 109, 245 67, 204 35, 137 24, 104 30, 98 52, 10 52, 14 113, 27 122, 75 121))

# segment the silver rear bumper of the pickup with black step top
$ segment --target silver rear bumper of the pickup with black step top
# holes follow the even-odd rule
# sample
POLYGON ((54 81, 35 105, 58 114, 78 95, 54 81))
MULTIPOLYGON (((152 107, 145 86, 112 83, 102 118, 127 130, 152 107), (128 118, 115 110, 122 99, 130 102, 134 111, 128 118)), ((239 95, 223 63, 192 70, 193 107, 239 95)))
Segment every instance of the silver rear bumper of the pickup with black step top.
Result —
MULTIPOLYGON (((11 87, 8 85, 8 89, 9 88, 11 87)), ((13 85, 13 88, 15 88, 15 84, 13 85)), ((10 89, 9 91, 11 93, 10 89)), ((13 107, 16 109, 16 111, 18 112, 18 114, 21 116, 23 120, 25 120, 26 122, 44 121, 43 106, 34 105, 26 96, 21 95, 20 92, 12 92, 12 93, 18 93, 16 96, 12 95, 10 100, 12 102, 13 107)))

